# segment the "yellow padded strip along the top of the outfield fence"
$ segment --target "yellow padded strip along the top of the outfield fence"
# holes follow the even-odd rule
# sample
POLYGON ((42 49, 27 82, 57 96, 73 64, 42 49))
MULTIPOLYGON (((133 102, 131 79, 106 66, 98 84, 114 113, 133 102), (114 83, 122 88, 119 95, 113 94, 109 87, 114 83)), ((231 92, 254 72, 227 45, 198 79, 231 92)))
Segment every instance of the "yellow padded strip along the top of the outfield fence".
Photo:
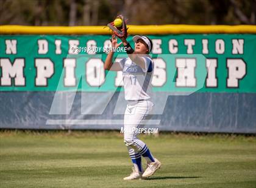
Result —
MULTIPOLYGON (((183 33, 256 33, 256 25, 128 25, 129 35, 183 33)), ((110 35, 105 26, 24 26, 0 25, 0 34, 110 35)))

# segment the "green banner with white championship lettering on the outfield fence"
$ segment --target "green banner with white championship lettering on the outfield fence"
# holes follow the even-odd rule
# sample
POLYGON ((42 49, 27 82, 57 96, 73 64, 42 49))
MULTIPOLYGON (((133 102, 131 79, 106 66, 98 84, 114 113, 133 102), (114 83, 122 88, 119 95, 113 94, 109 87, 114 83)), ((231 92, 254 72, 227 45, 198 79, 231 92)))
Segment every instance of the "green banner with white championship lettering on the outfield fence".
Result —
MULTIPOLYGON (((155 91, 256 92, 256 35, 149 38, 155 91)), ((122 90, 122 74, 104 70, 110 44, 107 35, 0 35, 0 91, 122 90)), ((114 62, 127 57, 116 50, 114 62)))

